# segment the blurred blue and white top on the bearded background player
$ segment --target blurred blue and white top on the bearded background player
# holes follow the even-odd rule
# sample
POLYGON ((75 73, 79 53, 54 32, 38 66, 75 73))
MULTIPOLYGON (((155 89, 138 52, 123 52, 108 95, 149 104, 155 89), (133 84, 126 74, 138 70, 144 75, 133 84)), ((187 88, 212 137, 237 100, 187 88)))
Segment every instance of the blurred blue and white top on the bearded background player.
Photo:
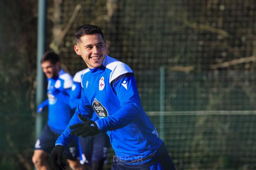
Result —
POLYGON ((72 76, 61 69, 59 76, 47 78, 47 82, 48 99, 43 102, 43 107, 48 106, 47 124, 52 131, 62 133, 73 115, 69 107, 72 76))

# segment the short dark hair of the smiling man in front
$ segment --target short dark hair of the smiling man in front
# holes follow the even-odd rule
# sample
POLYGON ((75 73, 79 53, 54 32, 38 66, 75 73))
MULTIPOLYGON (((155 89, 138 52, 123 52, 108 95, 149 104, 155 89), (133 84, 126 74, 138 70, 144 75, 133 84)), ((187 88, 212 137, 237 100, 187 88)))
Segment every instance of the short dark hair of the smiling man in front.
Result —
POLYGON ((78 27, 78 29, 76 29, 75 32, 75 40, 76 42, 81 42, 81 37, 83 35, 92 35, 92 34, 100 34, 102 36, 102 39, 104 40, 104 35, 103 32, 101 31, 100 27, 98 26, 94 26, 94 25, 90 25, 90 24, 85 24, 83 26, 78 27))

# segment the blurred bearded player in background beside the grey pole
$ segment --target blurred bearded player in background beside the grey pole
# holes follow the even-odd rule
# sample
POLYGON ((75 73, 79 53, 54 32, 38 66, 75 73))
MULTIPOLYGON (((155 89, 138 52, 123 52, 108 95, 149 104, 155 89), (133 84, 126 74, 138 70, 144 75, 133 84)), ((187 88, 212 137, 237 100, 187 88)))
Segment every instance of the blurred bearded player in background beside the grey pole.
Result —
MULTIPOLYGON (((48 121, 40 138, 36 141, 32 161, 37 170, 50 170, 47 156, 54 148, 54 143, 69 123, 73 111, 69 107, 69 95, 72 86, 72 76, 65 73, 60 67, 59 56, 47 51, 41 60, 43 72, 47 76, 48 99, 38 106, 42 113, 48 106, 48 121)), ((79 157, 78 140, 71 141, 64 151, 67 162, 73 170, 83 170, 79 157)))

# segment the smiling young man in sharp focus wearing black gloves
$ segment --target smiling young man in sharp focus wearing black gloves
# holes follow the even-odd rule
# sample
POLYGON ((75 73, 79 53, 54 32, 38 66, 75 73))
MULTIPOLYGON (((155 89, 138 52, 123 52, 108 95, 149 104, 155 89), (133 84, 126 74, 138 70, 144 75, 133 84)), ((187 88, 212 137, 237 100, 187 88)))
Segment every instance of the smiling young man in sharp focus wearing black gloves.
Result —
POLYGON ((74 50, 88 68, 81 99, 66 130, 55 143, 52 163, 62 170, 62 152, 75 136, 107 133, 116 153, 112 170, 175 170, 164 142, 145 114, 133 71, 106 54, 101 29, 83 25, 76 30, 74 50), (97 120, 92 121, 93 114, 97 120))

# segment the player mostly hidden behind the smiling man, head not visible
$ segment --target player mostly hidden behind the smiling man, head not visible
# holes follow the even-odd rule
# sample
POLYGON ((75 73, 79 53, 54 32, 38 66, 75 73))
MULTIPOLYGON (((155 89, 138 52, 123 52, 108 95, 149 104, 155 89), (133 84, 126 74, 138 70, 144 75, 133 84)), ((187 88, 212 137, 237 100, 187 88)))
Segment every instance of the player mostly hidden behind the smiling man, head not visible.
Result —
MULTIPOLYGON (((76 109, 81 98, 81 82, 83 73, 87 69, 78 71, 73 78, 72 90, 69 98, 71 109, 76 109)), ((92 120, 96 121, 99 117, 93 114, 92 120)), ((86 138, 79 137, 81 144, 81 161, 80 163, 88 164, 91 170, 102 170, 104 162, 107 158, 107 150, 109 148, 109 137, 106 133, 99 133, 95 136, 86 138)))

